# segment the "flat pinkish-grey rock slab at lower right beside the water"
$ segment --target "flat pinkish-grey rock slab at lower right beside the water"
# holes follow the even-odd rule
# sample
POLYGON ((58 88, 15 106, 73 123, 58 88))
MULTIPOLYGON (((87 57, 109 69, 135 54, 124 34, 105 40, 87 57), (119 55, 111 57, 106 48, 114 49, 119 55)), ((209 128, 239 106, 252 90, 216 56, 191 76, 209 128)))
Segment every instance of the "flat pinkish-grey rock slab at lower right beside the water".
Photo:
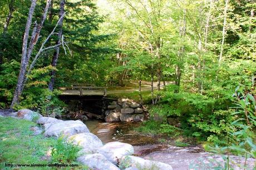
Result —
MULTIPOLYGON (((225 169, 222 156, 202 152, 198 147, 180 148, 170 146, 164 151, 152 152, 142 158, 170 164, 174 170, 213 169, 218 166, 222 167, 220 169, 225 169)), ((244 161, 244 158, 230 156, 230 166, 234 169, 240 169, 237 165, 241 164, 243 166, 244 161)), ((255 161, 253 158, 248 158, 247 169, 253 169, 255 161)))

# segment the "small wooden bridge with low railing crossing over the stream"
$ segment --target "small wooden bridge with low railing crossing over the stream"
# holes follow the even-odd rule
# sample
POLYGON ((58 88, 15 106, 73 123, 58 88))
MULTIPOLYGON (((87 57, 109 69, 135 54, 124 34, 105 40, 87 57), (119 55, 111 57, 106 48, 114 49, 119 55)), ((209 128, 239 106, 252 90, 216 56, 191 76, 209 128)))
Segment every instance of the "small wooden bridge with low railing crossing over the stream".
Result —
POLYGON ((106 87, 97 87, 93 84, 71 84, 71 86, 60 87, 61 95, 76 96, 106 96, 106 87))

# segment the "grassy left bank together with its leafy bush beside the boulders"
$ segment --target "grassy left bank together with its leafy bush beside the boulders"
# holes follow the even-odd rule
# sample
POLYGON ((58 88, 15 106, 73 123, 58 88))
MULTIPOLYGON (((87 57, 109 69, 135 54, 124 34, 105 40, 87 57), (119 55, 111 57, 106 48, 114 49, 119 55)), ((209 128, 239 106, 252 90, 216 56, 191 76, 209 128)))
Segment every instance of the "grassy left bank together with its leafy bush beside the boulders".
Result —
MULTIPOLYGON (((77 146, 67 144, 60 138, 46 138, 43 135, 33 136, 31 127, 36 123, 17 120, 11 117, 0 117, 0 169, 8 169, 5 164, 78 164, 77 146)), ((40 167, 52 169, 52 167, 40 167)), ((23 167, 21 169, 35 169, 23 167)), ((71 169, 66 167, 65 169, 71 169)))

